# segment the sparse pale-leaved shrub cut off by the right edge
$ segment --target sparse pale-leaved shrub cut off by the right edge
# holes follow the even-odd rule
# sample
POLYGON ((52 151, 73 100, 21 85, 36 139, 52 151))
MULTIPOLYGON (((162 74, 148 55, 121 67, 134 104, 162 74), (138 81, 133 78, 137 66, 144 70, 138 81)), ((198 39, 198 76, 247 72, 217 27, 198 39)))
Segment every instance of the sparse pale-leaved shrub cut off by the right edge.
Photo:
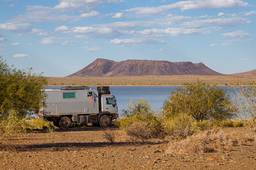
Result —
POLYGON ((237 109, 237 116, 245 122, 250 129, 256 132, 256 86, 233 87, 236 94, 232 99, 237 109))

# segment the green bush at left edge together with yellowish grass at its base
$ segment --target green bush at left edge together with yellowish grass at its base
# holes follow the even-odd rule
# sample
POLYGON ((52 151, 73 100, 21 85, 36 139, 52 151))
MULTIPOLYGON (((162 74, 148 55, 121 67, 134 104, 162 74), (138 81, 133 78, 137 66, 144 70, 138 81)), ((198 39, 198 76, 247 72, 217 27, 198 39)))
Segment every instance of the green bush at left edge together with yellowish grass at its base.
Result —
POLYGON ((22 134, 31 125, 28 115, 38 110, 46 80, 41 74, 8 66, 0 56, 0 136, 22 134))

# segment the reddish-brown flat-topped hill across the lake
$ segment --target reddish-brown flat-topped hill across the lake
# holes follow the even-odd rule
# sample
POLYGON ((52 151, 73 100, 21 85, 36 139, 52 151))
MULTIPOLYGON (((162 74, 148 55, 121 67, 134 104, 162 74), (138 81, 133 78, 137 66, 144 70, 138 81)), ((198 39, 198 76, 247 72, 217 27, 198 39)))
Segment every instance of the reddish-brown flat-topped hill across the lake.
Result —
POLYGON ((124 60, 115 62, 96 59, 68 77, 84 76, 144 76, 144 75, 221 75, 202 62, 170 62, 166 60, 124 60))

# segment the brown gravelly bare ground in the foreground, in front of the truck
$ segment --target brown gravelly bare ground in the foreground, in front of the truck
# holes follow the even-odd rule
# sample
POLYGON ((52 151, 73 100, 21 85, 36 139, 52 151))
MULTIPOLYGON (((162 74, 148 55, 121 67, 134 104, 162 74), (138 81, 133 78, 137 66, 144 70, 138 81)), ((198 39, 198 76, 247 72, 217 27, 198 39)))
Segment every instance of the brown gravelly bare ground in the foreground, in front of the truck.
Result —
MULTIPOLYGON (((109 131, 115 132, 113 143, 103 138, 101 127, 37 129, 13 137, 0 150, 0 169, 256 169, 255 142, 221 152, 168 154, 168 143, 180 139, 167 136, 140 143, 117 127, 109 131)), ((244 127, 221 131, 251 135, 244 127)))

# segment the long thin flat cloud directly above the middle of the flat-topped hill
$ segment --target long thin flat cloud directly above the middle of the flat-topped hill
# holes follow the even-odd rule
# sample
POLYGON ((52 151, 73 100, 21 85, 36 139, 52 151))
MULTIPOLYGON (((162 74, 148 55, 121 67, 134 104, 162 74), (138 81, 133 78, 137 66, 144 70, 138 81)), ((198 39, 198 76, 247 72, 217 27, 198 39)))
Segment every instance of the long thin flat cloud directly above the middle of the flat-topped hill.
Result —
POLYGON ((166 41, 161 39, 155 39, 155 38, 128 38, 128 39, 112 39, 110 43, 116 44, 116 45, 129 45, 129 44, 138 44, 138 43, 159 43, 164 44, 166 41))

